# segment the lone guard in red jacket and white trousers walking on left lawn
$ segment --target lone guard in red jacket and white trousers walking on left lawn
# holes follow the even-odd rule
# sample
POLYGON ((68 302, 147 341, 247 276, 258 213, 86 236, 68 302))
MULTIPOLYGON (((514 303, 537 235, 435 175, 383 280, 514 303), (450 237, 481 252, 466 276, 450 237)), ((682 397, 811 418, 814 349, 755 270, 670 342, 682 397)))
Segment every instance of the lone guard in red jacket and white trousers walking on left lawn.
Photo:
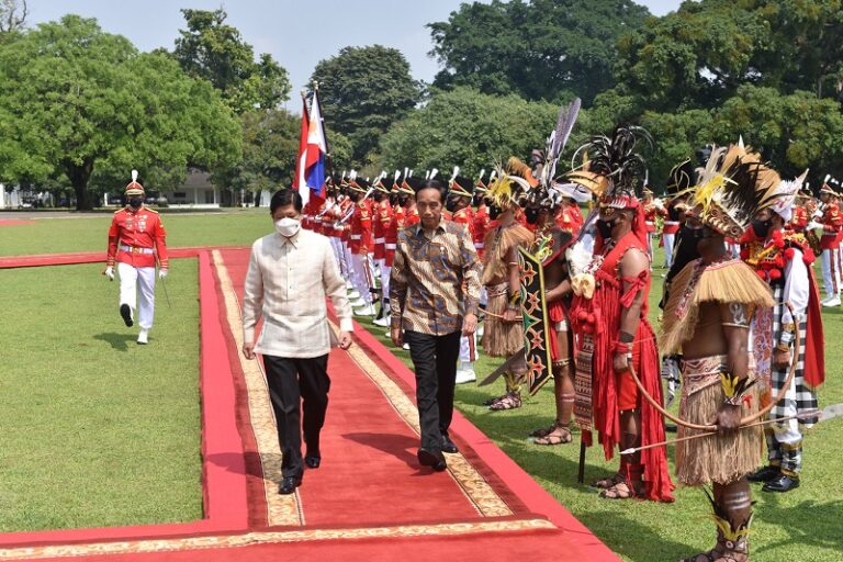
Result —
POLYGON ((114 262, 120 276, 120 315, 126 326, 135 322, 138 310, 140 331, 137 342, 146 345, 155 316, 155 266, 164 280, 170 270, 167 259, 167 232, 156 211, 144 205, 144 187, 132 170, 126 186, 127 205, 114 213, 109 228, 109 251, 103 274, 114 280, 114 262), (138 292, 140 294, 139 307, 138 292))

